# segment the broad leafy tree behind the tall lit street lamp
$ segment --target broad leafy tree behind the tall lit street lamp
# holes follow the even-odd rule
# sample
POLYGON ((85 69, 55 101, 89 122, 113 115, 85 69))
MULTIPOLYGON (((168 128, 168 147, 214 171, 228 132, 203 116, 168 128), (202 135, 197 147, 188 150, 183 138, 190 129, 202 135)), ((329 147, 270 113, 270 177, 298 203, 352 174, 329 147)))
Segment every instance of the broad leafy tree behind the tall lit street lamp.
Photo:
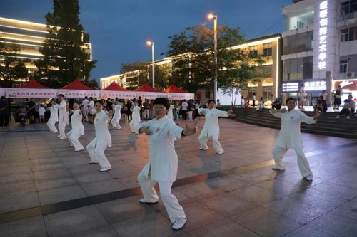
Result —
MULTIPOLYGON (((186 28, 178 35, 169 36, 171 43, 167 56, 173 59, 173 80, 181 88, 196 92, 201 88, 213 89, 215 73, 213 31, 206 23, 186 28)), ((263 60, 248 48, 234 48, 245 43, 240 28, 217 28, 217 82, 226 92, 229 86, 239 89, 255 77, 256 66, 263 60)), ((233 90, 231 90, 233 91, 233 90)), ((232 93, 234 95, 234 93, 232 93)), ((232 100, 233 102, 233 100, 232 100)))

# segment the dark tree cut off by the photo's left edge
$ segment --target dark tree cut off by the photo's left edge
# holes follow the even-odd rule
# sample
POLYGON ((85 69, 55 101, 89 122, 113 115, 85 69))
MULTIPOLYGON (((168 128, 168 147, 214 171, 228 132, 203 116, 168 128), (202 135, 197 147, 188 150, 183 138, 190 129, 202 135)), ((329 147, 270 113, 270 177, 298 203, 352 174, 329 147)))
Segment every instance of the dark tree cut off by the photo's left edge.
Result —
POLYGON ((14 80, 27 78, 29 73, 22 60, 16 57, 19 46, 0 38, 0 76, 4 87, 13 87, 14 80))

